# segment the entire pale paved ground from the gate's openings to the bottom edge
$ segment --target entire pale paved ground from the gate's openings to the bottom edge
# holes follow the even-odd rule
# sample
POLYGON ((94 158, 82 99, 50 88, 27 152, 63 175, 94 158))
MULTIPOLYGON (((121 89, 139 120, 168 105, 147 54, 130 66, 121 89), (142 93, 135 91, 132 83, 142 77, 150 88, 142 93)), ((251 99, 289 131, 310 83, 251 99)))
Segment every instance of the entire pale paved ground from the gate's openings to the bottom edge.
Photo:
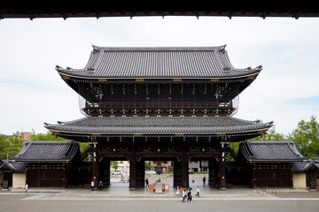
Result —
MULTIPOLYGON (((159 176, 152 176, 153 183, 159 176)), ((128 183, 117 178, 112 179, 112 185, 102 191, 91 192, 90 189, 36 189, 30 188, 28 193, 23 189, 0 191, 0 212, 3 211, 314 211, 319 208, 319 191, 306 189, 276 189, 276 196, 262 193, 249 187, 234 186, 227 191, 219 191, 209 186, 203 186, 198 177, 193 188, 193 201, 182 202, 176 197, 170 178, 161 178, 168 184, 169 193, 149 193, 148 189, 140 188, 131 191, 128 183), (196 188, 200 188, 200 197, 196 197, 196 188)))

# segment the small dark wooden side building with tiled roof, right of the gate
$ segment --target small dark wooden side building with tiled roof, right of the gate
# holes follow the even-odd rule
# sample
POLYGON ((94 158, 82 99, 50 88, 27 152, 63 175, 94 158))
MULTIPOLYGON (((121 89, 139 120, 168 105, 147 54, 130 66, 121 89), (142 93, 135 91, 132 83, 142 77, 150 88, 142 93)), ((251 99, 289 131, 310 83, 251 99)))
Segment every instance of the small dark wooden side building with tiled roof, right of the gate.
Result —
POLYGON ((251 170, 252 187, 293 187, 292 164, 306 159, 291 140, 244 141, 239 155, 251 170))

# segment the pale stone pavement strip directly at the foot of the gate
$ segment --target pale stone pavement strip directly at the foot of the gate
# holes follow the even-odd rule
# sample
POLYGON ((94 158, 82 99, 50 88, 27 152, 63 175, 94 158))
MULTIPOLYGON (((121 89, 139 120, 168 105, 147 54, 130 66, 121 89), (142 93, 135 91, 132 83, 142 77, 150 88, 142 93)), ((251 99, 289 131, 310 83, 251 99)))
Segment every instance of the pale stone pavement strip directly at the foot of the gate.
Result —
MULTIPOLYGON (((54 198, 55 200, 63 199, 87 199, 87 198, 97 198, 97 199, 107 199, 107 198, 177 198, 175 193, 175 188, 172 187, 171 182, 164 182, 169 184, 169 193, 149 193, 146 188, 138 188, 136 190, 130 190, 128 188, 128 183, 113 182, 108 188, 104 188, 102 191, 91 192, 90 189, 83 188, 70 188, 70 189, 43 189, 43 188, 30 188, 28 190, 29 194, 33 193, 46 193, 45 198, 54 198)), ((196 189, 199 186, 200 198, 203 199, 259 199, 259 198, 275 198, 276 196, 270 195, 269 193, 261 193, 259 190, 254 190, 249 187, 244 186, 234 186, 227 189, 227 191, 220 191, 209 186, 203 186, 201 184, 195 183, 191 184, 193 198, 198 198, 195 196, 196 189)), ((4 193, 3 192, 0 192, 4 193)), ((12 189, 11 193, 24 193, 23 189, 12 189)), ((276 189, 277 197, 315 197, 319 198, 319 191, 309 192, 305 189, 276 189)))

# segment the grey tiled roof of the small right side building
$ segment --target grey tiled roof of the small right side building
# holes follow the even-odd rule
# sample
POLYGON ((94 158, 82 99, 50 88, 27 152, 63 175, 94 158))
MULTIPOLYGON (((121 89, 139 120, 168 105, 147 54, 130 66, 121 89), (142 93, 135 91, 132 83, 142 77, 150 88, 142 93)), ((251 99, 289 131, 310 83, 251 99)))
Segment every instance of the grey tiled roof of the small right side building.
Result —
POLYGON ((290 140, 243 141, 239 151, 252 162, 300 162, 306 158, 290 140))

